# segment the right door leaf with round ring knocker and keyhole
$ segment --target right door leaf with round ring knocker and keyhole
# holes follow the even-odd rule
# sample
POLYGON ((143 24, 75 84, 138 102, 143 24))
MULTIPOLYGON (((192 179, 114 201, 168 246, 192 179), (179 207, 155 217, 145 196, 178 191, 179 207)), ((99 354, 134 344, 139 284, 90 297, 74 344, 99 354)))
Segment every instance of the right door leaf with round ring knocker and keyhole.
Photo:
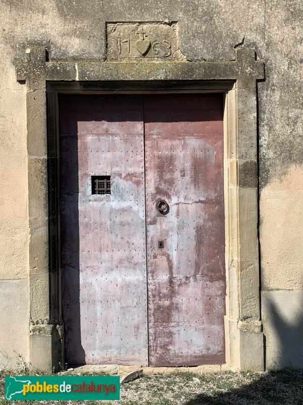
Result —
POLYGON ((144 101, 149 365, 224 362, 222 96, 144 101))

